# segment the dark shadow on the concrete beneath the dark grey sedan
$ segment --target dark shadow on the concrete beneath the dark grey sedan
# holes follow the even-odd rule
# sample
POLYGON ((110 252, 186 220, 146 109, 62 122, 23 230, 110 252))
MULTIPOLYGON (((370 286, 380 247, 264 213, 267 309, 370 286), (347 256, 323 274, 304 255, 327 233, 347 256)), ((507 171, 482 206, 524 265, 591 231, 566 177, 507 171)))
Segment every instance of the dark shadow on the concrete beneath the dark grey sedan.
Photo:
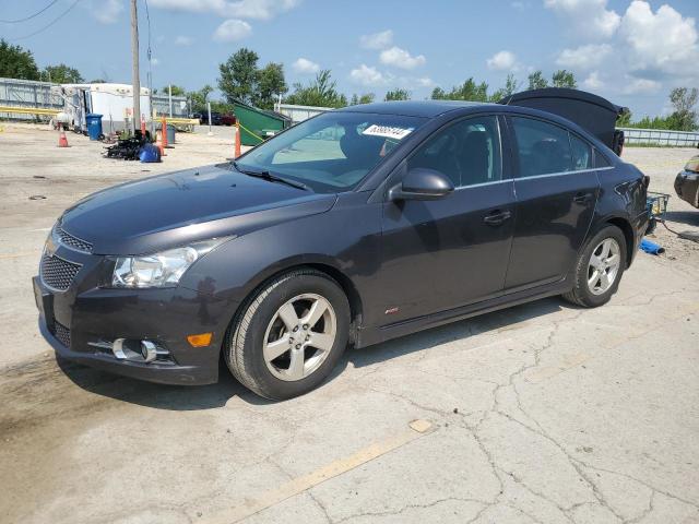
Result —
MULTIPOLYGON (((345 353, 329 380, 334 380, 341 376, 350 362, 355 368, 371 366, 404 355, 428 350, 430 347, 448 342, 503 330, 530 319, 560 311, 564 308, 574 309, 574 306, 564 303, 559 298, 546 298, 433 327, 366 348, 352 349, 345 353)), ((85 391, 155 409, 212 409, 226 405, 227 402, 236 396, 252 405, 274 404, 273 401, 261 398, 237 382, 226 369, 223 360, 220 362, 218 382, 198 386, 143 382, 74 364, 60 357, 57 357, 57 364, 66 373, 66 377, 85 391)))

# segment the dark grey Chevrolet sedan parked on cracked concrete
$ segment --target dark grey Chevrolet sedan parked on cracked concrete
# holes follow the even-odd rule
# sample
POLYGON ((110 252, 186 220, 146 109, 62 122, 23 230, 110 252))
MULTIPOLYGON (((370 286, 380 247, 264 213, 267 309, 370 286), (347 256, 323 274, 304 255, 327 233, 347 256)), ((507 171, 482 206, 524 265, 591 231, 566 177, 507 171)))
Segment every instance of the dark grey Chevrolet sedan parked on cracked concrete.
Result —
POLYGON ((552 295, 607 302, 645 231, 648 181, 550 112, 352 106, 233 163, 81 200, 46 241, 36 303, 66 358, 204 384, 223 356, 288 398, 348 345, 552 295))

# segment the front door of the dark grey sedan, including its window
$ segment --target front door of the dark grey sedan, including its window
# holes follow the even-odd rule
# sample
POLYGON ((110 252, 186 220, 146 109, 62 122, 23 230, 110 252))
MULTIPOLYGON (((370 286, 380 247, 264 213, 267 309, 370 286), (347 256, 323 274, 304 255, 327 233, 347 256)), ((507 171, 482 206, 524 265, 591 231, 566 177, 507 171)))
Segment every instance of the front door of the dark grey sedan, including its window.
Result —
POLYGON ((405 170, 438 170, 457 189, 383 204, 383 324, 501 294, 514 224, 501 151, 498 118, 478 116, 437 131, 407 159, 405 170))

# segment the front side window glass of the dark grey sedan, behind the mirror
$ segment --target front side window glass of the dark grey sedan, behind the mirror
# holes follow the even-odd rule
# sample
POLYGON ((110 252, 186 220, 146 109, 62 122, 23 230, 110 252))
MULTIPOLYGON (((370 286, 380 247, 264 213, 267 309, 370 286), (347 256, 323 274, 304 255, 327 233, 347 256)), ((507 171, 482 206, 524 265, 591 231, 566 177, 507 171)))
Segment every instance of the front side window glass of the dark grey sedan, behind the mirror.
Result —
POLYGON ((455 188, 502 179, 497 117, 473 117, 436 132, 407 160, 407 168, 435 169, 455 188))

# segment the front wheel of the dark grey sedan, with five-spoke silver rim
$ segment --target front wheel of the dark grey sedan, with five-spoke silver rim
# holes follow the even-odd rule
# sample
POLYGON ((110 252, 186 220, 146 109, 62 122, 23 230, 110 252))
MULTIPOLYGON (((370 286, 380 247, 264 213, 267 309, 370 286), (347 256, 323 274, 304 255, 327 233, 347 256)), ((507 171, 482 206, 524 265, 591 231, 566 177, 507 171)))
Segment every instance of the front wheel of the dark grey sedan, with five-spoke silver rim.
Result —
POLYGON ((340 360, 350 315, 347 297, 334 279, 311 269, 292 271, 244 303, 228 327, 224 359, 233 376, 260 396, 281 401, 303 395, 340 360), (311 310, 323 312, 316 320, 311 310))

